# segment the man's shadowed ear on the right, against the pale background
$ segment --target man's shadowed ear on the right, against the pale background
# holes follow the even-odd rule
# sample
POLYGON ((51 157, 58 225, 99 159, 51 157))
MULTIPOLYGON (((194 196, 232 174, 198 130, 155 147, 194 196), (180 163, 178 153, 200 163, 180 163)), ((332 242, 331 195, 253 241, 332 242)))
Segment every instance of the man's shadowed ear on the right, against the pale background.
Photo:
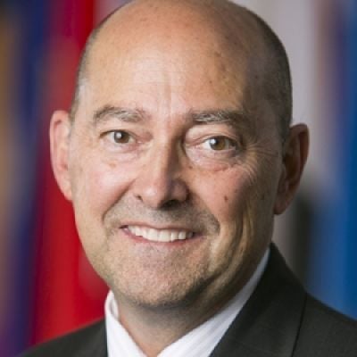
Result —
POLYGON ((274 213, 284 212, 295 196, 309 152, 309 130, 298 124, 290 128, 284 146, 283 170, 278 183, 274 213))

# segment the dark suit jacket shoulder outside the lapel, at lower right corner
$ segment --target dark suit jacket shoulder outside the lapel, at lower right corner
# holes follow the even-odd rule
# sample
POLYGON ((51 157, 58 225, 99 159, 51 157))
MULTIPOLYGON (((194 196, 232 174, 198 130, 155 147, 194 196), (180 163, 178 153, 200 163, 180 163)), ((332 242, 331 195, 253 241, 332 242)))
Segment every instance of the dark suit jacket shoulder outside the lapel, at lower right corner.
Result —
POLYGON ((296 356, 357 356, 357 321, 307 296, 296 356), (315 356, 315 355, 314 355, 315 356))

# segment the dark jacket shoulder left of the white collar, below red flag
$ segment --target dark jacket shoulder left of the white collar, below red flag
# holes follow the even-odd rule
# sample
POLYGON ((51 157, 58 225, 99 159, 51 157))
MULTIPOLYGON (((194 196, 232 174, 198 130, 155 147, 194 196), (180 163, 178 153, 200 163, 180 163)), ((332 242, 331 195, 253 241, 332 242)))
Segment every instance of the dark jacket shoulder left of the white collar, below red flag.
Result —
POLYGON ((37 345, 19 357, 106 356, 104 320, 37 345))

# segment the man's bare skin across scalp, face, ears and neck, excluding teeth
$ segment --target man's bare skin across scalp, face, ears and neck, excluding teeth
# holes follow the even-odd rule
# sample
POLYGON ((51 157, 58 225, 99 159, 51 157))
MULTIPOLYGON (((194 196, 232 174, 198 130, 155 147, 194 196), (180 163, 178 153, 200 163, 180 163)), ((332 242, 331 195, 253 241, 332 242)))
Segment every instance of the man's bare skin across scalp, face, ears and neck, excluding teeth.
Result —
POLYGON ((262 99, 265 48, 253 19, 228 10, 192 1, 124 7, 91 49, 74 122, 62 111, 51 122, 54 174, 79 237, 148 356, 245 285, 307 156, 306 127, 282 143, 262 99), (222 111, 228 120, 202 120, 222 111), (129 225, 195 236, 156 243, 129 225))

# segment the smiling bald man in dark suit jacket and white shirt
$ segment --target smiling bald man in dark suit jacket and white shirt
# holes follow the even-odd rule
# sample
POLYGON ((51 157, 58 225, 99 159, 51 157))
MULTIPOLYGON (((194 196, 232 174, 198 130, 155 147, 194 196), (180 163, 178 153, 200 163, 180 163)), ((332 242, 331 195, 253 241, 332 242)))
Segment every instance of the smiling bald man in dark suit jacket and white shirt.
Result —
POLYGON ((308 151, 283 46, 222 0, 137 0, 88 40, 54 175, 105 321, 25 356, 357 356, 271 245, 308 151))

